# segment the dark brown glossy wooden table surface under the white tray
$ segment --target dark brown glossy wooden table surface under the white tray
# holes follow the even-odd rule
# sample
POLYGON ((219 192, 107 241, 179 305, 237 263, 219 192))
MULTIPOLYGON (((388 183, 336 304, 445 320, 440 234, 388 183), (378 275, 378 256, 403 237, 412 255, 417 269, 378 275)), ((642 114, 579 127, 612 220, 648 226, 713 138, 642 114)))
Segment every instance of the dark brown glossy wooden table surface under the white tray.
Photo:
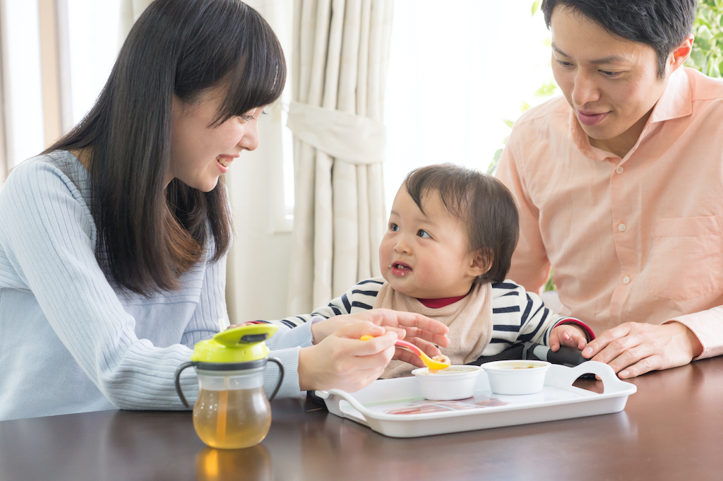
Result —
POLYGON ((616 414, 409 439, 279 399, 237 451, 206 448, 190 412, 4 421, 0 480, 723 480, 723 357, 631 382, 616 414))

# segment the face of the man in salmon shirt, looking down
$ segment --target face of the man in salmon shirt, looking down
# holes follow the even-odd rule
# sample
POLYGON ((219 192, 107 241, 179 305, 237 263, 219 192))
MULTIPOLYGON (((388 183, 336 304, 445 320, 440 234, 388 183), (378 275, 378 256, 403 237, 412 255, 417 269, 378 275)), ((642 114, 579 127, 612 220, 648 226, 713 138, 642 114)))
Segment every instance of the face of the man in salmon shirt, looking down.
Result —
POLYGON ((670 69, 661 79, 651 46, 612 35, 566 7, 552 12, 550 30, 552 72, 591 145, 625 156, 662 95, 670 69))

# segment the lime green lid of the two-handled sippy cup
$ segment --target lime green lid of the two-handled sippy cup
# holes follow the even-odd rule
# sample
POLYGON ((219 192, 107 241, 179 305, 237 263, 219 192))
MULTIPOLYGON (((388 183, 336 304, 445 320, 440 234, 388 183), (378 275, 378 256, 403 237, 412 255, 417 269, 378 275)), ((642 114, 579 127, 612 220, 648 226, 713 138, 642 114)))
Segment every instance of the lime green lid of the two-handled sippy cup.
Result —
POLYGON ((266 339, 278 331, 274 324, 246 324, 226 329, 212 339, 200 341, 194 346, 191 360, 194 362, 249 362, 264 359, 270 349, 266 339))

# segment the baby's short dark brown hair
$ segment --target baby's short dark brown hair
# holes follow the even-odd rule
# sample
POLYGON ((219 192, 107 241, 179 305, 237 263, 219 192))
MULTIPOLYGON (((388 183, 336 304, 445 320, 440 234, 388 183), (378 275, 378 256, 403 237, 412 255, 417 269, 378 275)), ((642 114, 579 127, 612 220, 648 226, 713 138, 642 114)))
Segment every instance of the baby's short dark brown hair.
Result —
POLYGON ((424 197, 437 192, 448 212, 466 224, 470 250, 482 251, 489 267, 475 282, 505 280, 520 234, 520 217, 515 198, 502 182, 444 163, 411 171, 403 186, 422 212, 424 197))

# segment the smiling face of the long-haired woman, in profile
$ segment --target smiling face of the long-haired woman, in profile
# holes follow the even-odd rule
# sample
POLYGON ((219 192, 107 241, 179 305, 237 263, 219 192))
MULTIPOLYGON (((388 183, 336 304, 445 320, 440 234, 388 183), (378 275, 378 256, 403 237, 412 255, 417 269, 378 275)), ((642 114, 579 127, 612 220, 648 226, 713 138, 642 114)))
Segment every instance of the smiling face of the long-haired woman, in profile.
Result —
POLYGON ((259 145, 257 122, 263 107, 212 126, 226 91, 207 90, 189 104, 174 96, 171 112, 171 164, 167 182, 179 179, 202 192, 210 192, 243 150, 259 145))

